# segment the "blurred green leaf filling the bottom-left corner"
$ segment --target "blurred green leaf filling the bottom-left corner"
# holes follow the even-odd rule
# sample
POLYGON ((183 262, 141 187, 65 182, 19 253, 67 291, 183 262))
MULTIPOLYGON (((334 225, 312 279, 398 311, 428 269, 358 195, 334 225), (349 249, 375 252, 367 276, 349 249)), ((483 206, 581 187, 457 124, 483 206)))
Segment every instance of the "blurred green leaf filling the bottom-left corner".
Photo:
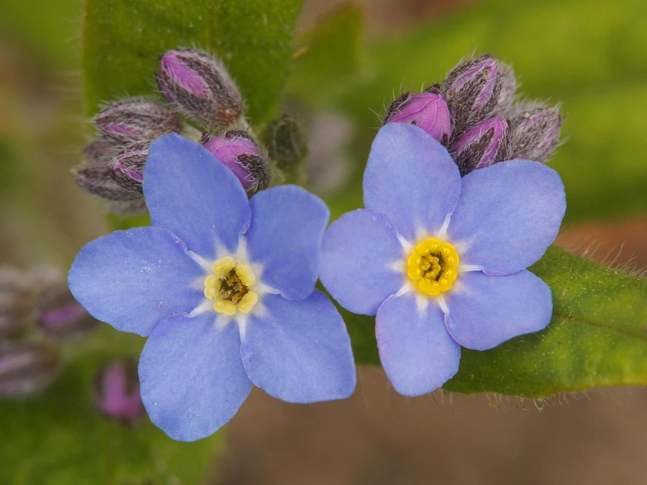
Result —
MULTIPOLYGON (((113 349, 137 352, 143 339, 107 325, 83 342, 45 396, 0 401, 0 483, 7 485, 145 485, 201 483, 223 433, 192 443, 171 440, 142 416, 134 426, 106 418, 93 404, 96 370, 113 349)), ((73 346, 76 350, 79 344, 73 346)))

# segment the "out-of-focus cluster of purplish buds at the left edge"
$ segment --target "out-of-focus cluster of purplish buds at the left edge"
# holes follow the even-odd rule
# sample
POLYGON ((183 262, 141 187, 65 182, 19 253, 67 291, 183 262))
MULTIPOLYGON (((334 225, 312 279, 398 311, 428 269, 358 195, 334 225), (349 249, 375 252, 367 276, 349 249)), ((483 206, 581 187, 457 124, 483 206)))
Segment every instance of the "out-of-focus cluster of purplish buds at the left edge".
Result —
POLYGON ((51 268, 0 268, 0 397, 43 391, 58 372, 58 343, 96 325, 51 268))

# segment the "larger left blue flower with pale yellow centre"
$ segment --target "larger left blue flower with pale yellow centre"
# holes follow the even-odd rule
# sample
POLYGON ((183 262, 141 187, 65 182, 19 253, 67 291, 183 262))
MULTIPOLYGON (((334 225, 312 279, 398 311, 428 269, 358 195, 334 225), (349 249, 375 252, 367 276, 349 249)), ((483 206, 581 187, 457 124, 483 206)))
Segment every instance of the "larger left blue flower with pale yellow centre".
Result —
POLYGON ((95 318, 148 337, 139 377, 153 423, 206 437, 252 383, 288 402, 353 392, 344 321, 314 290, 322 200, 297 186, 248 200, 212 153, 175 134, 150 147, 144 197, 151 226, 89 242, 69 286, 95 318))

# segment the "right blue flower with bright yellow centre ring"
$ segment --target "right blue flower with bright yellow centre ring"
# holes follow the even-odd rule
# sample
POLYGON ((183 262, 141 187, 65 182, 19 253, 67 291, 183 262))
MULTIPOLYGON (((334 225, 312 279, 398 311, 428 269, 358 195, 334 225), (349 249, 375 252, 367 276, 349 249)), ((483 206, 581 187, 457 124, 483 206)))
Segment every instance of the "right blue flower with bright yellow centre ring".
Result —
POLYGON ((380 360, 399 393, 443 385, 461 345, 490 349, 548 325, 551 290, 525 268, 564 217, 553 169, 509 160, 461 178, 432 136, 391 123, 371 147, 364 206, 324 233, 320 277, 342 306, 376 315, 380 360))

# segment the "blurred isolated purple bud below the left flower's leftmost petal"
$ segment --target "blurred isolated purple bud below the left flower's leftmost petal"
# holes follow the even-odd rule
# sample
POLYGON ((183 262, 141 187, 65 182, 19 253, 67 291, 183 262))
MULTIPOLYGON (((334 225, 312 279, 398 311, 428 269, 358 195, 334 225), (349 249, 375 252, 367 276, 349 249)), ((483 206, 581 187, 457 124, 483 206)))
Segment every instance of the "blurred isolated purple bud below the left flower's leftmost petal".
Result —
POLYGON ((139 396, 137 365, 132 360, 115 360, 98 372, 94 402, 106 416, 131 424, 144 413, 139 396))

